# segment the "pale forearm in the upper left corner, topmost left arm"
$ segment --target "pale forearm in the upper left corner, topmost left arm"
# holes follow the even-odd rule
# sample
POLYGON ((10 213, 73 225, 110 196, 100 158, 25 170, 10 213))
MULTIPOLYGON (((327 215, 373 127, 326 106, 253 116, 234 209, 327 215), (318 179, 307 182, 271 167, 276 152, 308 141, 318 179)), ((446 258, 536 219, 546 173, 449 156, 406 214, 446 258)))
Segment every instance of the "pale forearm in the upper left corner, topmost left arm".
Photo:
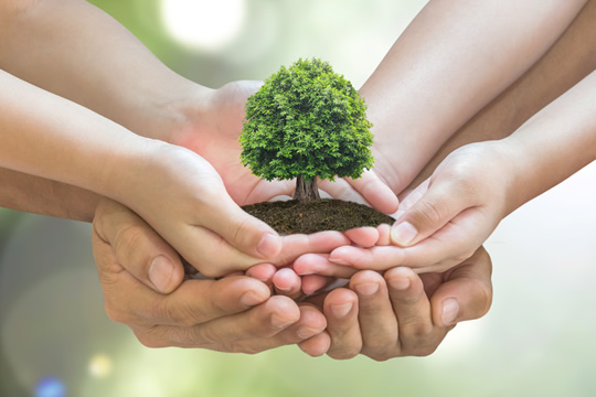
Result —
POLYGON ((201 86, 86 1, 7 0, 0 8, 0 68, 136 133, 172 141, 172 122, 184 117, 180 101, 201 100, 201 86))

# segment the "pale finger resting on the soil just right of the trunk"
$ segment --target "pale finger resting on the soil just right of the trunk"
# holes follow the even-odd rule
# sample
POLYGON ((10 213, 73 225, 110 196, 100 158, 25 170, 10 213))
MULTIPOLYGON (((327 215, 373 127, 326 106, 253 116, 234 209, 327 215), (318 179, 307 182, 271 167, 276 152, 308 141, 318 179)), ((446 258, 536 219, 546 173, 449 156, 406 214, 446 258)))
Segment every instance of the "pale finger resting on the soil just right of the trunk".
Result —
POLYGON ((397 196, 374 171, 365 170, 361 178, 345 178, 348 183, 366 200, 373 208, 393 214, 400 204, 397 196))

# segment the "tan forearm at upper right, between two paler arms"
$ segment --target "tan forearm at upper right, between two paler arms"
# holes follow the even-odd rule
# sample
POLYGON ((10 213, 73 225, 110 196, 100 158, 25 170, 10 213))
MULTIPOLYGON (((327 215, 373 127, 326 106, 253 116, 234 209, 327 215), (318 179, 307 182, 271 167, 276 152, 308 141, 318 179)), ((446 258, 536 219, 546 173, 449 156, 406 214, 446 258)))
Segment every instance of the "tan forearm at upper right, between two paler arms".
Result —
POLYGON ((454 150, 502 139, 596 68, 596 1, 589 1, 549 52, 522 77, 466 122, 411 183, 426 180, 454 150))

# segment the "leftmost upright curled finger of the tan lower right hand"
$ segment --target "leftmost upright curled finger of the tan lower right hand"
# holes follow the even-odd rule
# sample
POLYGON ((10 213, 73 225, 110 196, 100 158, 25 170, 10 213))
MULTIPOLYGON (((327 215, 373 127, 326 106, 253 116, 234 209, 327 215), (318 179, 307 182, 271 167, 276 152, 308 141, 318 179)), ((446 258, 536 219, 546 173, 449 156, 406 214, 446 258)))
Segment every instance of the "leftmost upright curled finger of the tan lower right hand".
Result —
POLYGON ((327 332, 331 337, 327 354, 330 357, 345 360, 360 354, 362 335, 358 310, 358 297, 349 289, 336 289, 324 299, 323 313, 327 318, 327 332))

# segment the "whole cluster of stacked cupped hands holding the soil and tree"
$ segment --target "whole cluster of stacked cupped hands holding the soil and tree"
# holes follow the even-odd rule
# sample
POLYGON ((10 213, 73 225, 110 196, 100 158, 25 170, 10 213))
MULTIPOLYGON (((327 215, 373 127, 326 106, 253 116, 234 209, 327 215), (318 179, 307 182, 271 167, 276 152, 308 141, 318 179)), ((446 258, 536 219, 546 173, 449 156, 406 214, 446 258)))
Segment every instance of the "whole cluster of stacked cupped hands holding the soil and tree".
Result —
POLYGON ((492 170, 466 164, 498 149, 464 147, 406 190, 419 170, 400 164, 403 149, 383 146, 397 131, 374 131, 374 170, 320 187, 397 211, 395 225, 279 236, 240 207, 295 186, 260 180, 240 161, 244 103, 256 89, 236 82, 196 98, 172 131, 175 144, 140 165, 150 187, 126 186, 137 205, 98 205, 94 256, 111 320, 151 347, 257 353, 297 344, 311 356, 387 360, 428 355, 457 322, 488 311, 491 262, 481 244, 503 210, 475 202, 499 197, 482 189, 492 170), (189 278, 189 265, 207 278, 189 278), (324 290, 338 278, 348 281, 324 290))

